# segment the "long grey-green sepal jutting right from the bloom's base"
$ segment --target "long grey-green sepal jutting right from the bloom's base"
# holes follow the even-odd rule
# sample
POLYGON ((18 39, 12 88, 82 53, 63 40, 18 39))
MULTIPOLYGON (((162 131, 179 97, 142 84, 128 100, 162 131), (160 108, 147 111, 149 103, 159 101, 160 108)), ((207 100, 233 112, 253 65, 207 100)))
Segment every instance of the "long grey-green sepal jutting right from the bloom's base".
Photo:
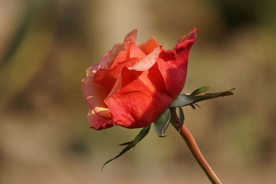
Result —
POLYGON ((212 93, 204 93, 202 92, 201 94, 197 94, 196 96, 192 96, 191 94, 179 94, 175 101, 173 101, 170 104, 170 108, 175 108, 175 107, 183 107, 186 105, 191 105, 192 108, 195 108, 195 103, 199 101, 204 101, 208 99, 215 99, 219 96, 229 96, 233 95, 232 90, 235 90, 235 88, 225 91, 225 92, 212 92, 212 93))

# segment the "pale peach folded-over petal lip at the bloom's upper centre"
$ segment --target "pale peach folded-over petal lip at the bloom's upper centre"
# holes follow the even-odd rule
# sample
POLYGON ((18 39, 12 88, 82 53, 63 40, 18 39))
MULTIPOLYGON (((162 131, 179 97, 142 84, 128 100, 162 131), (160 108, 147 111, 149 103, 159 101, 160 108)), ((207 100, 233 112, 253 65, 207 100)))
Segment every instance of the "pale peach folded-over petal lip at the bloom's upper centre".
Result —
POLYGON ((152 50, 144 59, 141 59, 138 63, 130 67, 130 70, 144 71, 148 70, 155 64, 157 58, 159 57, 160 48, 157 47, 155 50, 152 50))

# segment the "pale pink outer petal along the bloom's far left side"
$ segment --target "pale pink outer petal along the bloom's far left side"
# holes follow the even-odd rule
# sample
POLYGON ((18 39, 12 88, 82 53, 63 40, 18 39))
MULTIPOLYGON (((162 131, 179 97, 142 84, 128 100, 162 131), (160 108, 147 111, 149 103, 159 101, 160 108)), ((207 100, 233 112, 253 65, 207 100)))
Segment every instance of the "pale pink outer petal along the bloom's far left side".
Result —
POLYGON ((91 68, 88 68, 86 70, 86 78, 81 81, 83 97, 91 109, 96 107, 107 108, 103 100, 108 96, 109 91, 103 88, 102 85, 93 82, 97 66, 93 65, 91 68))

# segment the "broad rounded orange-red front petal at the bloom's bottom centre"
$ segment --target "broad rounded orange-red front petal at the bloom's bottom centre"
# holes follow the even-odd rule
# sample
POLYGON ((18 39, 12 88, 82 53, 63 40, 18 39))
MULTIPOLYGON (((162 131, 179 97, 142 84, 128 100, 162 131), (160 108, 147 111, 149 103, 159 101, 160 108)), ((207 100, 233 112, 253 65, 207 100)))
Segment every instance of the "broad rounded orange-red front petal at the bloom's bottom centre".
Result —
POLYGON ((112 120, 128 128, 146 127, 161 114, 155 99, 142 91, 132 91, 108 99, 112 120))

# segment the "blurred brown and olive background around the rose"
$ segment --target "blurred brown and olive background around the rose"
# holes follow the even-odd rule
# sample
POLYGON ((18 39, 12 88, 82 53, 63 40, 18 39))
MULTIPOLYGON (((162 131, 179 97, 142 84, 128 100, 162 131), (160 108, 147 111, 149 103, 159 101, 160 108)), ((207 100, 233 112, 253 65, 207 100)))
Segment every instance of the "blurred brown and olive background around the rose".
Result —
POLYGON ((224 183, 275 183, 276 3, 187 0, 1 0, 0 183, 209 183, 179 134, 96 131, 81 93, 86 69, 130 30, 166 50, 199 28, 184 92, 215 83, 234 96, 184 108, 224 183))

